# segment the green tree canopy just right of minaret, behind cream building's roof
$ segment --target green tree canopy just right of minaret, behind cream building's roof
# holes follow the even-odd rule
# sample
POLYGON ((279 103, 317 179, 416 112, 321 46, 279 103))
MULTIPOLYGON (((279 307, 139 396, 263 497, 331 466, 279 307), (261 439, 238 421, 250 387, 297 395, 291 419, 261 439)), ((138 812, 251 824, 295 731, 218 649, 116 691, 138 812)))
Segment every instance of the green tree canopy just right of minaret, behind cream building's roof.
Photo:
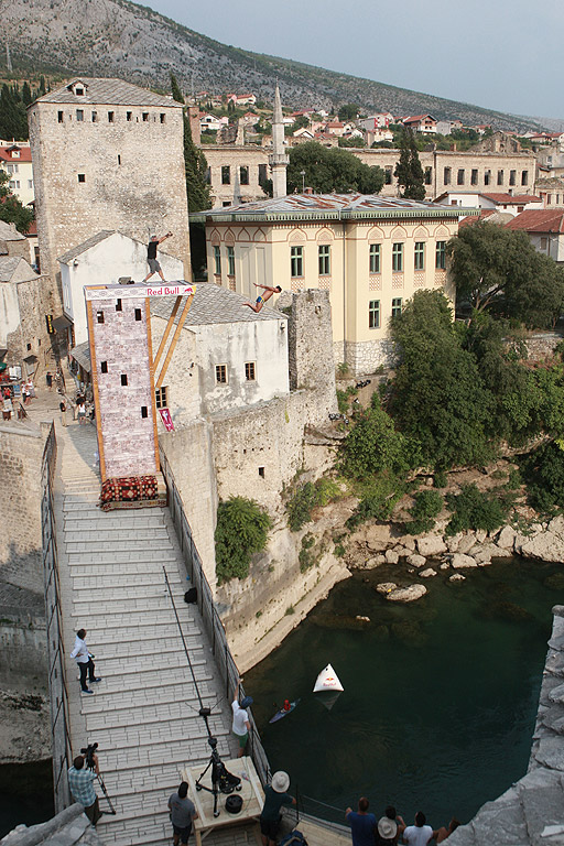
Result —
POLYGON ((316 141, 297 144, 290 150, 288 192, 302 192, 302 171, 305 184, 319 194, 378 194, 383 185, 381 167, 362 164, 356 155, 339 148, 327 148, 316 141))

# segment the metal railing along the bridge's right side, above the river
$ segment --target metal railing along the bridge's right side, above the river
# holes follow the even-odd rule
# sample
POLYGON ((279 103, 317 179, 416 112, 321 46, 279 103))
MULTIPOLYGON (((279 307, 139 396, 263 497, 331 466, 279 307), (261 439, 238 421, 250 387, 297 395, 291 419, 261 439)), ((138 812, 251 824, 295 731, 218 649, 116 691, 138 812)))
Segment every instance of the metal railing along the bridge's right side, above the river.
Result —
MULTIPOLYGON (((196 544, 194 543, 191 525, 184 513, 182 498, 163 451, 161 451, 161 470, 169 490, 169 510, 184 556, 186 574, 189 576, 193 587, 197 589, 198 609, 212 644, 212 652, 215 658, 216 666, 225 685, 226 698, 230 702, 230 697, 234 695, 235 687, 239 681, 239 670, 231 655, 224 623, 217 612, 212 588, 209 587, 209 583, 204 573, 202 558, 199 557, 196 544)), ((241 695, 245 696, 242 685, 241 695)), ((251 724, 251 730, 249 731, 249 755, 252 758, 259 779, 264 787, 270 779, 270 764, 252 715, 249 715, 249 718, 251 724)))

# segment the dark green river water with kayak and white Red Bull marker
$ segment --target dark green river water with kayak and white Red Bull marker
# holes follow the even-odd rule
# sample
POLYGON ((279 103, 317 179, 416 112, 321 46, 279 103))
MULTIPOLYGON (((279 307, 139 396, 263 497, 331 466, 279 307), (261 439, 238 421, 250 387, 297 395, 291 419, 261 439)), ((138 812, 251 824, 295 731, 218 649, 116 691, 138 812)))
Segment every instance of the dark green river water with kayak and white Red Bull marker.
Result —
POLYGON ((564 573, 506 560, 465 571, 462 584, 438 574, 423 599, 394 605, 373 588, 398 573, 337 585, 245 688, 270 763, 290 773, 304 810, 341 822, 340 809, 367 795, 376 813, 392 803, 435 827, 467 822, 527 770, 564 573), (330 711, 312 693, 328 662, 345 687, 330 711), (299 707, 269 725, 286 697, 299 707))

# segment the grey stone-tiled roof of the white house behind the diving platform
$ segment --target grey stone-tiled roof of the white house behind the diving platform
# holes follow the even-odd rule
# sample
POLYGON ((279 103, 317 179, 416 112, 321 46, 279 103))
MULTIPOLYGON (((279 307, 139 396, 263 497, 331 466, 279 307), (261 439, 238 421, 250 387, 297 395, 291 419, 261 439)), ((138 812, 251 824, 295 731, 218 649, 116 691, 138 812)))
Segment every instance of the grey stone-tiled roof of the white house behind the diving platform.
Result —
MULTIPOLYGON (((258 294, 260 289, 258 289, 258 294)), ((258 295, 257 294, 257 295, 258 295)), ((252 297, 254 299, 254 297, 252 297)), ((214 323, 256 323, 257 321, 279 321, 284 317, 280 312, 269 308, 268 305, 258 314, 242 305, 248 296, 236 294, 226 288, 220 288, 213 282, 204 282, 196 285, 194 302, 186 317, 185 328, 191 326, 204 326, 214 323)), ((175 297, 151 297, 151 314, 167 321, 173 310, 175 297)), ((182 308, 178 308, 178 316, 182 308)))

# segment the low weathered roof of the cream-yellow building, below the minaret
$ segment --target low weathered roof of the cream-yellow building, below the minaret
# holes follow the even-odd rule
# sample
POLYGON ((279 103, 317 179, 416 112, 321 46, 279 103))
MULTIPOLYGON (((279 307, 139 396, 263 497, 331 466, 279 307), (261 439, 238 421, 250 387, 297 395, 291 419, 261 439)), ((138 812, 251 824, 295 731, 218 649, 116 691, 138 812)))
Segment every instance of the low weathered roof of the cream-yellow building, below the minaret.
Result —
MULTIPOLYGON (((465 209, 466 210, 466 209, 465 209)), ((285 197, 259 199, 253 203, 216 208, 200 212, 191 219, 215 219, 223 216, 236 220, 238 217, 251 215, 253 218, 269 219, 269 216, 285 215, 288 217, 370 217, 387 213, 414 213, 438 216, 441 213, 459 215, 456 206, 442 206, 416 199, 399 197, 382 197, 378 194, 289 194, 285 197), (373 213, 372 215, 370 213, 373 213)))

